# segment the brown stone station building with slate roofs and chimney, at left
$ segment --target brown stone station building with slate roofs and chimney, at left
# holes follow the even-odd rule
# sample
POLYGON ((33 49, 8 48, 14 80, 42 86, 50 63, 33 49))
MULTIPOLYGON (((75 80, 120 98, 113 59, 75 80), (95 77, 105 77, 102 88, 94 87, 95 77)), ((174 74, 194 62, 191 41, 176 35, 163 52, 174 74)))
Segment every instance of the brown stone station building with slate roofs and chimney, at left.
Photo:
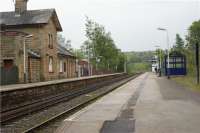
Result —
POLYGON ((27 3, 16 0, 15 11, 0 12, 1 84, 76 77, 76 57, 57 42, 55 9, 27 10, 27 3))

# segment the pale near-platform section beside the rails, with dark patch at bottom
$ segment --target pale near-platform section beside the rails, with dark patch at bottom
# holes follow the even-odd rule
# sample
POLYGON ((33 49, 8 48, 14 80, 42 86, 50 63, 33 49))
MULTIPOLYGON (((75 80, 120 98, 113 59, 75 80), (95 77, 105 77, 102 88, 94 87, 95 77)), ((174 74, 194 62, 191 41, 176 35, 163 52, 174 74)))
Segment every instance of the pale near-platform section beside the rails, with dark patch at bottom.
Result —
POLYGON ((127 113, 131 113, 130 121, 128 118, 118 119, 123 110, 127 108, 126 105, 129 99, 134 95, 137 87, 146 75, 147 74, 144 74, 130 81, 97 102, 67 118, 56 133, 118 133, 117 130, 134 130, 132 111, 127 111, 127 113), (130 122, 130 124, 123 124, 124 122, 126 124, 130 122))

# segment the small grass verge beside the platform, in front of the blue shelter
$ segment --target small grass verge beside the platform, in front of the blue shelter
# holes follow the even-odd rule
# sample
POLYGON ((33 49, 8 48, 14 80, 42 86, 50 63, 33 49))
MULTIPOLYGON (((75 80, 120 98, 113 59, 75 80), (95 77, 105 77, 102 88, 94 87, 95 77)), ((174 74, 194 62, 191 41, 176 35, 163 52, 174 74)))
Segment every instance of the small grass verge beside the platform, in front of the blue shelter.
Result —
POLYGON ((178 76, 173 77, 172 79, 175 80, 177 83, 182 84, 187 88, 190 88, 191 90, 200 92, 200 85, 197 85, 194 76, 178 76))

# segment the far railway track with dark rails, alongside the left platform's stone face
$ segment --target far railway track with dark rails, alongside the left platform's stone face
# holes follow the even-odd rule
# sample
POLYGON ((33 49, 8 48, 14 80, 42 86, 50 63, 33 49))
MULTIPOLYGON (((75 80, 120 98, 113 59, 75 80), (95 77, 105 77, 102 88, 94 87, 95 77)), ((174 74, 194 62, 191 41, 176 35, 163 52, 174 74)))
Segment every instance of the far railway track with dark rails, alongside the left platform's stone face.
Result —
POLYGON ((67 100, 71 100, 75 97, 78 97, 80 95, 87 94, 89 92, 95 91, 100 87, 112 84, 113 82, 120 81, 120 80, 123 80, 125 78, 127 78, 126 75, 119 77, 119 78, 114 78, 110 81, 106 81, 106 82, 104 81, 103 83, 95 84, 95 86, 93 85, 93 86, 89 86, 89 87, 84 88, 84 89, 75 90, 75 91, 68 93, 68 94, 66 94, 66 92, 63 92, 62 94, 58 94, 56 96, 51 96, 51 97, 46 98, 46 99, 40 99, 39 101, 34 102, 34 103, 30 103, 30 104, 27 104, 27 105, 24 105, 24 106, 16 107, 14 109, 3 111, 3 112, 1 112, 0 123, 6 124, 9 121, 12 121, 13 119, 22 117, 22 116, 27 115, 29 113, 40 111, 42 109, 51 107, 51 106, 58 104, 58 103, 61 103, 61 102, 65 102, 67 100))

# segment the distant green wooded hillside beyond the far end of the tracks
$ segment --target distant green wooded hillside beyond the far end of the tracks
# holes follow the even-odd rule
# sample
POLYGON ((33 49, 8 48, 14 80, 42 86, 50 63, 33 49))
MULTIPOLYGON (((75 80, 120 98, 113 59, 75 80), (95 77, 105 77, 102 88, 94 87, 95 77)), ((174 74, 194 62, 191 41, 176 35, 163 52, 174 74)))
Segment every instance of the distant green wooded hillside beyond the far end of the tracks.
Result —
POLYGON ((146 72, 151 70, 151 60, 154 56, 154 51, 144 52, 125 52, 127 56, 127 68, 129 73, 146 72))

